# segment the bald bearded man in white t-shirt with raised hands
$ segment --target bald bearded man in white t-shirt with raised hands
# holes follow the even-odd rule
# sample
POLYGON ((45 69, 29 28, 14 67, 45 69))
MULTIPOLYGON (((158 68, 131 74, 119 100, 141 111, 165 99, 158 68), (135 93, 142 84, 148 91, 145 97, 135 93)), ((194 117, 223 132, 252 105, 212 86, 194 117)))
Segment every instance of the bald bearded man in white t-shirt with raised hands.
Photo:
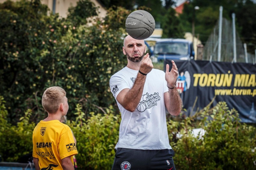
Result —
POLYGON ((121 112, 119 140, 113 170, 175 170, 174 151, 169 144, 165 107, 173 116, 182 101, 175 87, 178 69, 153 69, 144 40, 129 35, 123 42, 127 66, 110 78, 110 89, 121 112))

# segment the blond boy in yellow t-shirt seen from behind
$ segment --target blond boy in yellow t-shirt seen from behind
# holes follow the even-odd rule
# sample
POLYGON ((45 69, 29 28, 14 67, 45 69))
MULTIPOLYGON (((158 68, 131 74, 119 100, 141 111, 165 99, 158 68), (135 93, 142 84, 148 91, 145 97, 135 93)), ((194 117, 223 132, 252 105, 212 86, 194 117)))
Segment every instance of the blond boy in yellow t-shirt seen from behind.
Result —
POLYGON ((44 91, 42 105, 48 117, 33 131, 33 162, 36 170, 74 170, 73 156, 78 154, 68 125, 60 122, 69 110, 66 91, 53 86, 44 91))

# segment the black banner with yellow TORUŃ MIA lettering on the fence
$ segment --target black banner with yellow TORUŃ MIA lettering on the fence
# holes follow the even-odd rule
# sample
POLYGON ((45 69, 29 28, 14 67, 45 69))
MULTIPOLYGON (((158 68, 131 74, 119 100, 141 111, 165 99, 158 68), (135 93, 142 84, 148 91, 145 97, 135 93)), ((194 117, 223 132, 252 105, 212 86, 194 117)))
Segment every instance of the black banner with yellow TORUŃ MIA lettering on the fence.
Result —
MULTIPOLYGON (((165 60, 172 68, 171 60, 165 60)), ((250 63, 227 63, 209 61, 175 60, 179 76, 176 87, 189 116, 193 104, 203 109, 216 96, 212 106, 225 101, 235 108, 241 122, 256 123, 256 65, 250 63)))

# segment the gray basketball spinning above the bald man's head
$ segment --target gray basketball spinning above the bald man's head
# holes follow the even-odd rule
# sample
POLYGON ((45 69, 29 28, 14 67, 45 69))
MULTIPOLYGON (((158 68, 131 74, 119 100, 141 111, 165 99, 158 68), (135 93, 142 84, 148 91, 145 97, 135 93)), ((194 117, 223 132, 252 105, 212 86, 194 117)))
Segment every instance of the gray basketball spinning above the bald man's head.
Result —
POLYGON ((155 30, 153 16, 145 10, 136 10, 126 18, 125 28, 127 33, 137 40, 150 37, 155 30))

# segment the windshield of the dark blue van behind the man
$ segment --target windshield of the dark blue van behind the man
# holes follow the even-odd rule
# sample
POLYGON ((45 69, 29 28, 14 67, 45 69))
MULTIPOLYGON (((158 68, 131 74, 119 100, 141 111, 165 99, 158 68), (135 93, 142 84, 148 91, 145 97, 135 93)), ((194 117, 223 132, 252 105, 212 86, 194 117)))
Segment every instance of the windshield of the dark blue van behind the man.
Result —
POLYGON ((188 43, 187 42, 158 42, 156 43, 155 54, 174 54, 174 55, 187 55, 188 43))

